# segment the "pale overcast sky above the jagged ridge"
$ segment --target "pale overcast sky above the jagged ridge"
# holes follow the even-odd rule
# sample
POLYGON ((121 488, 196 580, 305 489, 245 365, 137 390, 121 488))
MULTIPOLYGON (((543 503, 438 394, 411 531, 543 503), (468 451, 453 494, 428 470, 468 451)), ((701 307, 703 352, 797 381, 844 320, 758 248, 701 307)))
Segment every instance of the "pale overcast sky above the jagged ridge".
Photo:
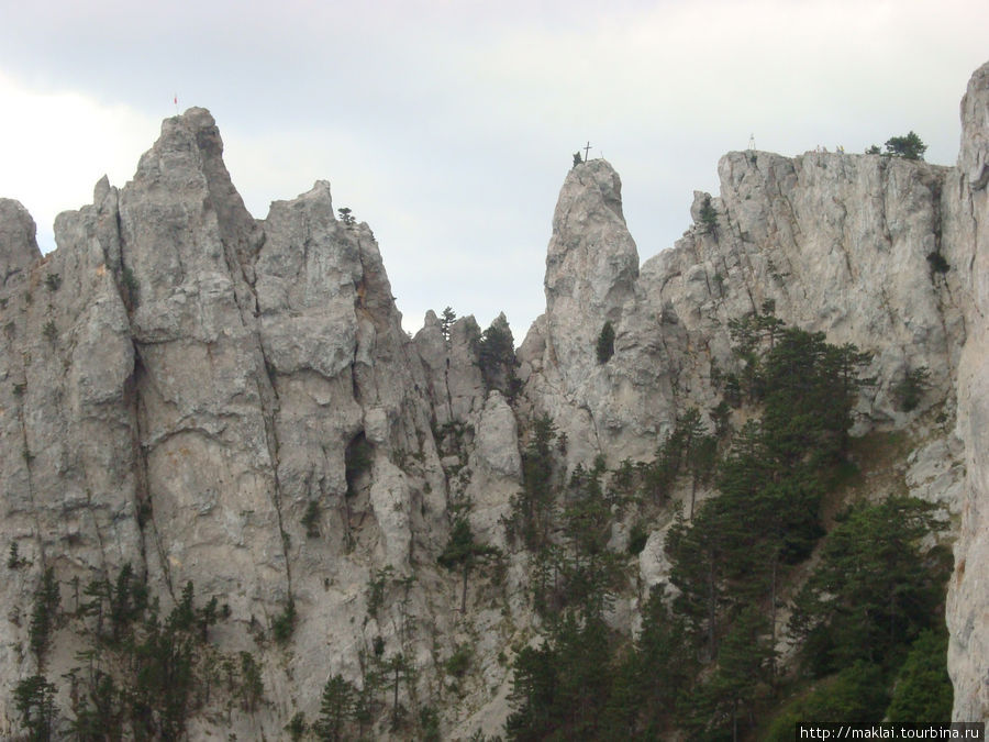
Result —
POLYGON ((177 95, 212 111, 256 218, 331 181, 407 330, 503 310, 521 342, 587 141, 644 261, 749 134, 796 155, 913 130, 954 164, 987 31, 986 0, 0 0, 0 196, 53 248, 55 214, 123 186, 177 95))

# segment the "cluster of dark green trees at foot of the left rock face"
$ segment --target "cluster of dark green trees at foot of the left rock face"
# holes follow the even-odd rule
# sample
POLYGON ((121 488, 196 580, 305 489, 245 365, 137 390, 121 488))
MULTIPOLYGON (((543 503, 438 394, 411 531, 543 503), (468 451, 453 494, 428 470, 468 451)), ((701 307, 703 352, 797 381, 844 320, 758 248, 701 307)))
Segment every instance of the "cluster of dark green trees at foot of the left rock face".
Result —
POLYGON ((53 568, 35 591, 29 634, 38 674, 14 691, 29 739, 48 740, 54 733, 58 688, 43 675, 44 658, 54 629, 67 621, 88 640, 76 654, 79 664, 62 676, 68 684, 65 723, 71 739, 182 739, 189 715, 223 696, 216 682, 224 671, 229 697, 241 698, 245 709, 257 708, 264 686, 254 657, 242 653, 238 667, 209 644, 220 613, 215 598, 197 608, 192 583, 187 583, 163 617, 130 564, 113 580, 98 577, 81 590, 78 580, 73 584, 73 613, 59 612, 53 568))

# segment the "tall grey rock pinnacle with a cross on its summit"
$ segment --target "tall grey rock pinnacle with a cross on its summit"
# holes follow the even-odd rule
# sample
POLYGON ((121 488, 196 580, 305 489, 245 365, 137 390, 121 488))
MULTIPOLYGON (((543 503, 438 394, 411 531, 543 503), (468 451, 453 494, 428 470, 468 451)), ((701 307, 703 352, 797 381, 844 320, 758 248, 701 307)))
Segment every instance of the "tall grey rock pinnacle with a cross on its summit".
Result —
POLYGON ((664 348, 630 328, 637 278, 618 174, 603 159, 578 165, 553 217, 546 313, 520 350, 527 396, 566 434, 571 463, 598 452, 612 463, 647 456, 671 419, 664 348), (614 359, 602 364, 596 345, 605 322, 618 336, 614 359))

